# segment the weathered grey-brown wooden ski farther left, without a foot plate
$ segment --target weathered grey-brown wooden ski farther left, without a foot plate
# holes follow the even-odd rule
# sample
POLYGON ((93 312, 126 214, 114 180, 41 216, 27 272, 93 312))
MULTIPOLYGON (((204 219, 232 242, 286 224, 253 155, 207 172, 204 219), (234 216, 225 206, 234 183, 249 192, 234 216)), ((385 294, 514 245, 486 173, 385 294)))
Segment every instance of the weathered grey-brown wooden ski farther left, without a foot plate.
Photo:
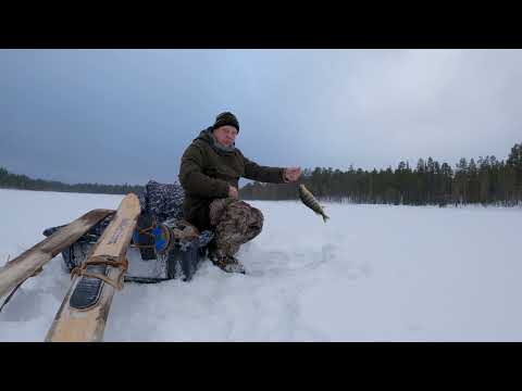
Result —
POLYGON ((0 298, 10 290, 17 289, 29 277, 39 274, 45 264, 113 212, 103 209, 87 212, 0 267, 0 298))

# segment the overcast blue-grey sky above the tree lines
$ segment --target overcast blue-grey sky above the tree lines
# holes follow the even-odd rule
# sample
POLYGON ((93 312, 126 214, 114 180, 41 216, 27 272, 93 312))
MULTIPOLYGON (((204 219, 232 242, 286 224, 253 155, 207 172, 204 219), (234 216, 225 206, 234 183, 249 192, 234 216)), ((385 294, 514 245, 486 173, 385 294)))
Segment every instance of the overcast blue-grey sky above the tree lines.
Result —
POLYGON ((173 182, 232 111, 236 147, 262 165, 455 167, 506 159, 521 102, 522 50, 0 50, 0 166, 173 182))

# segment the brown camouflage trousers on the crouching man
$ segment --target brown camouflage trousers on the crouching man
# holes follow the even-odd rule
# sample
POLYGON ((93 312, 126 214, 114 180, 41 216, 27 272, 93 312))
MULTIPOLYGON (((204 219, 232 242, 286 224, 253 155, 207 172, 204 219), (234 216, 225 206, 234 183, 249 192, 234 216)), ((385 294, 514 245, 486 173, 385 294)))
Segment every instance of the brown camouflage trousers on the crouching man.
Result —
POLYGON ((256 238, 263 228, 263 214, 245 201, 216 199, 210 204, 214 239, 209 250, 216 256, 234 256, 241 244, 256 238))

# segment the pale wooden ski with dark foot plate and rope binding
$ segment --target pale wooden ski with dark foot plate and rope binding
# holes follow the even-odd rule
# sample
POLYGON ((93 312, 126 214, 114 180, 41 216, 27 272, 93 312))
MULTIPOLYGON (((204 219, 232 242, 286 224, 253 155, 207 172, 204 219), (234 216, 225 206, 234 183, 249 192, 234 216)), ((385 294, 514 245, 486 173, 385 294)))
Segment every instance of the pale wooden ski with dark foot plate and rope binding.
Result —
POLYGON ((123 288, 126 252, 140 213, 127 194, 82 266, 47 333, 46 342, 101 342, 115 290, 123 288))

